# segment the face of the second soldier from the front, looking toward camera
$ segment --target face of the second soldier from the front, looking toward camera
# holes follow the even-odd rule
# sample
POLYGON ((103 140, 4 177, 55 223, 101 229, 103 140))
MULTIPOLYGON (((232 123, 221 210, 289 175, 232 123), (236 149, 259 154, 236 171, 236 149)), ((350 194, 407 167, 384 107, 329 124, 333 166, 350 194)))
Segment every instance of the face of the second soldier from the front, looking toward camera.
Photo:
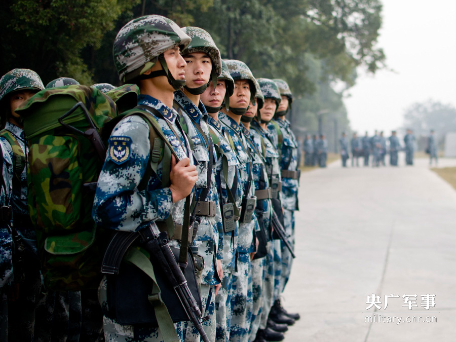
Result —
POLYGON ((207 84, 210 80, 212 61, 208 54, 204 52, 192 52, 183 56, 187 63, 186 86, 194 89, 207 84))

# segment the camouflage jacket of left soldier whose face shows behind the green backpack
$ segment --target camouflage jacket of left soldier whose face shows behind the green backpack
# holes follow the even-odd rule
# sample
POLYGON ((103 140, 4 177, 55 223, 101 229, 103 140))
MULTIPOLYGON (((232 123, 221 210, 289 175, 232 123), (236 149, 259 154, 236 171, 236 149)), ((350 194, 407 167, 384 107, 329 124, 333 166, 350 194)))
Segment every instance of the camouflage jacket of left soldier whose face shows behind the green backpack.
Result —
MULTIPOLYGON (((5 125, 5 130, 13 135, 13 137, 19 143, 20 148, 22 149, 24 155, 28 155, 28 146, 25 140, 24 130, 10 122, 7 122, 5 125)), ((11 157, 11 160, 14 161, 16 158, 13 153, 13 147, 10 145, 8 140, 4 137, 0 137, 5 147, 8 150, 8 154, 11 157)), ((11 174, 11 178, 14 179, 14 170, 11 174)), ((20 175, 20 186, 16 186, 16 183, 13 182, 13 193, 11 198, 11 205, 13 206, 13 217, 14 214, 26 215, 28 216, 28 201, 27 201, 27 165, 24 166, 21 175, 20 175)), ((36 240, 36 233, 32 225, 24 226, 16 224, 16 229, 18 233, 26 239, 36 240)))

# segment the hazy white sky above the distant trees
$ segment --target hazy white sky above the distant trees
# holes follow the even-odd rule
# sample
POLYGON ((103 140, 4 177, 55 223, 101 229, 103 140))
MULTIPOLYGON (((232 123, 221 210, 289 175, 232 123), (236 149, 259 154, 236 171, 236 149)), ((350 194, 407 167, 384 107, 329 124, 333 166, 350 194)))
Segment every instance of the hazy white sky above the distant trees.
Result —
POLYGON ((382 0, 383 26, 378 47, 389 68, 366 75, 344 99, 352 130, 391 131, 403 114, 428 99, 456 106, 456 2, 382 0))

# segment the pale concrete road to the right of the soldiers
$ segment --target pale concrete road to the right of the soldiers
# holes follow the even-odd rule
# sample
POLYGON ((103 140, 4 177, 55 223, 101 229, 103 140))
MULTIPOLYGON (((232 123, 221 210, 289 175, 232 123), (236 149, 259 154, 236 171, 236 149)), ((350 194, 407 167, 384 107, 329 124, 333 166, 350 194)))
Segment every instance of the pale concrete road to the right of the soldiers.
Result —
POLYGON ((283 295, 301 319, 285 341, 456 341, 456 191, 427 163, 343 169, 338 161, 303 173, 297 258, 283 295), (375 313, 366 310, 372 294, 382 302, 375 313), (399 298, 385 310, 391 294, 399 298), (418 307, 402 307, 414 294, 418 307), (422 294, 435 294, 434 308, 422 308, 422 294), (388 316, 401 322, 365 322, 388 316), (437 322, 404 322, 414 316, 437 322))

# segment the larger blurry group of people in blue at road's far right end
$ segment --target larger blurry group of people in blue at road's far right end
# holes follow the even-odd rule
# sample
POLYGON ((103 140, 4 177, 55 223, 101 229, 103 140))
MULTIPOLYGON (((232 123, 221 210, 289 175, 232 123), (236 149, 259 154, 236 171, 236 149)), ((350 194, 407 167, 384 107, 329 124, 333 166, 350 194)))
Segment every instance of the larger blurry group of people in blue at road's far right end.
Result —
MULTIPOLYGON (((390 165, 398 166, 398 154, 400 150, 405 151, 405 164, 413 165, 413 153, 415 149, 415 136, 412 130, 407 129, 407 134, 404 136, 404 146, 399 142, 396 131, 391 132, 391 136, 387 139, 383 131, 378 133, 375 130, 373 136, 369 137, 368 133, 364 137, 358 137, 356 133, 353 134, 352 139, 349 140, 345 132, 342 133, 339 139, 340 145, 340 156, 342 159, 342 166, 347 167, 347 160, 350 158, 349 151, 352 153, 352 167, 359 166, 358 158, 364 158, 364 166, 369 166, 370 156, 372 155, 371 163, 372 167, 379 167, 381 165, 386 166, 385 157, 386 154, 390 154, 390 165), (387 146, 387 140, 389 146, 387 146)), ((430 165, 432 160, 435 160, 437 164, 437 144, 434 137, 434 130, 428 137, 428 146, 426 153, 430 156, 430 165)))

